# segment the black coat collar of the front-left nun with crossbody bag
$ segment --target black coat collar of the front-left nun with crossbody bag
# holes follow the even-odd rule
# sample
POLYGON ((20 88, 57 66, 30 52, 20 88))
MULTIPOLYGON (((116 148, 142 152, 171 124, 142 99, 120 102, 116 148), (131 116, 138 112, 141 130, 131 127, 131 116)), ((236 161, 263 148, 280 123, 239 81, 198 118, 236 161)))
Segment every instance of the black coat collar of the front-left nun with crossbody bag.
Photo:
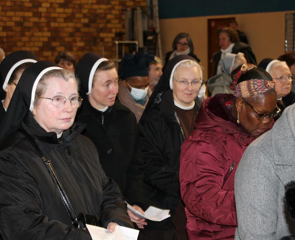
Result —
MULTIPOLYGON (((46 143, 59 143, 54 132, 47 133, 34 119, 31 112, 22 121, 22 127, 35 139, 46 143)), ((63 140, 66 144, 70 143, 85 128, 83 123, 74 123, 71 128, 63 131, 63 140)))

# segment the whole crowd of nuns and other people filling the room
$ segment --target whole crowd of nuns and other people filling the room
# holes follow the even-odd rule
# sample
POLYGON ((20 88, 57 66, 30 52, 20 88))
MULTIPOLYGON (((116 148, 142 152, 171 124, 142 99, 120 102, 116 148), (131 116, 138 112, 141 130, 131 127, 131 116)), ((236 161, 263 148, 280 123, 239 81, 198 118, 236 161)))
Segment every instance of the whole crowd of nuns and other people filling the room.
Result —
POLYGON ((237 26, 218 30, 207 81, 188 33, 165 63, 127 53, 118 70, 94 52, 0 52, 0 239, 90 240, 85 224, 295 239, 295 52, 257 64, 237 26))

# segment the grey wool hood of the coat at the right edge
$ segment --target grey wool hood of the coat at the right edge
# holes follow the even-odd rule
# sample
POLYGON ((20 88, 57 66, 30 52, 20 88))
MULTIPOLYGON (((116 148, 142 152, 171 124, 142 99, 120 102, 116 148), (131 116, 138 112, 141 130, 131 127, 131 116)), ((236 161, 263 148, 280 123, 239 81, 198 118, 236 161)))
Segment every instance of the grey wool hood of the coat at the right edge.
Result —
MULTIPOLYGON (((295 104, 287 107, 269 132, 275 164, 294 165, 295 104)), ((268 138, 269 139, 269 138, 268 138)))

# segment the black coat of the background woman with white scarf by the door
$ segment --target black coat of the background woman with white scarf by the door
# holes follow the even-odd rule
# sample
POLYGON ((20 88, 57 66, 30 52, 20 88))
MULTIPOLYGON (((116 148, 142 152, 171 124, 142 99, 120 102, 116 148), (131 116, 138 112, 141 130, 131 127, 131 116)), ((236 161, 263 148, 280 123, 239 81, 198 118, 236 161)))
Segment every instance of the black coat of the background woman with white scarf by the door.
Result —
MULTIPOLYGON (((232 48, 232 53, 237 54, 238 52, 242 52, 245 55, 245 58, 248 63, 253 63, 257 66, 255 54, 252 52, 252 48, 249 45, 243 42, 237 42, 235 46, 232 48)), ((215 60, 214 75, 216 75, 218 63, 221 58, 221 51, 219 50, 218 52, 214 53, 213 58, 215 60)))

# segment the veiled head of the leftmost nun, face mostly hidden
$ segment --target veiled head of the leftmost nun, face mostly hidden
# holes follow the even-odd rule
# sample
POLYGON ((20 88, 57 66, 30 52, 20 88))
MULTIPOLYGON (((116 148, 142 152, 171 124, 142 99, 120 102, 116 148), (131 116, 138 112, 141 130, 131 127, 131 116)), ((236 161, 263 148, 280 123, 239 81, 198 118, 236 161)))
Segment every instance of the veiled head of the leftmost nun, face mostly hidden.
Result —
POLYGON ((0 107, 0 124, 22 72, 37 61, 39 61, 39 58, 28 51, 12 52, 2 60, 0 64, 0 77, 2 81, 0 82, 3 83, 2 87, 5 91, 5 98, 2 100, 3 106, 0 107))

